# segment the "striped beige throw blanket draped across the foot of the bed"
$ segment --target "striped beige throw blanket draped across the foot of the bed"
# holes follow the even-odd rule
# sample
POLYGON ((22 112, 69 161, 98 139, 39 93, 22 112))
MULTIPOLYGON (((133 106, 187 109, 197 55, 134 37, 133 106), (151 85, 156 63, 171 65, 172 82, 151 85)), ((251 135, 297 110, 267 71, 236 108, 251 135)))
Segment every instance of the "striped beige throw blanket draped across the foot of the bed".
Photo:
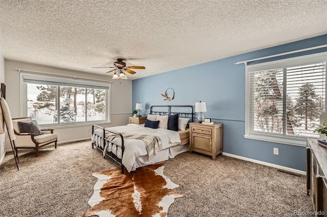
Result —
MULTIPOLYGON (((133 140, 142 140, 145 144, 145 148, 149 155, 149 160, 151 160, 157 152, 162 148, 162 142, 159 137, 156 135, 139 135, 139 134, 125 134, 121 133, 124 137, 124 139, 133 139, 133 140)), ((119 135, 115 134, 109 134, 107 135, 107 139, 112 141, 115 137, 119 137, 119 135)), ((106 143, 104 150, 103 150, 103 156, 105 156, 108 148, 108 143, 106 143)))

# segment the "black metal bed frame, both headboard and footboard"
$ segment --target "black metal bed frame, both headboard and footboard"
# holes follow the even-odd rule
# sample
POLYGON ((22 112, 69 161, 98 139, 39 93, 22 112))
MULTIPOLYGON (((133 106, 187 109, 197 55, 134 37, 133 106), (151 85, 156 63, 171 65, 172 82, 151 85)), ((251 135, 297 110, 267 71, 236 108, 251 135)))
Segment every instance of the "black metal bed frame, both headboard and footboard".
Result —
MULTIPOLYGON (((178 116, 180 116, 180 117, 184 116, 185 118, 187 118, 188 116, 191 115, 191 122, 194 119, 194 110, 193 110, 192 105, 152 105, 150 107, 150 113, 149 114, 156 114, 156 115, 176 115, 176 114, 178 114, 178 116), (166 108, 168 108, 168 111, 154 111, 153 109, 155 107, 160 107, 160 108, 166 107, 166 108), (191 112, 173 112, 172 108, 174 108, 174 107, 188 107, 188 108, 190 108, 191 112)), ((92 149, 94 148, 94 146, 96 146, 96 148, 98 148, 99 150, 101 150, 103 152, 104 149, 101 147, 101 143, 103 144, 103 147, 105 147, 105 145, 107 144, 108 148, 107 148, 105 156, 108 156, 111 159, 113 159, 115 162, 117 162, 122 168, 122 174, 124 174, 124 168, 125 167, 123 165, 122 160, 123 160, 123 154, 124 154, 125 146, 124 146, 124 137, 123 137, 123 135, 121 133, 119 133, 119 132, 116 132, 116 131, 113 131, 113 130, 110 130, 110 129, 107 129, 107 128, 104 128, 104 127, 101 127, 101 126, 98 126, 96 124, 92 125, 92 135, 96 135, 96 141, 92 142, 92 149), (98 129, 98 128, 103 130, 103 135, 95 132, 95 130, 98 129), (105 137, 105 134, 108 133, 108 132, 120 137, 121 138, 121 143, 120 144, 115 143, 115 142, 113 142, 113 140, 107 139, 105 137), (103 140, 103 141, 101 141, 101 140, 103 140), (111 146, 111 151, 109 151, 109 145, 111 146), (116 146, 116 153, 112 152, 112 150, 113 150, 112 147, 114 147, 114 146, 116 146), (122 158, 118 157, 118 147, 120 147, 121 150, 122 150, 122 158)), ((105 158, 105 156, 103 156, 103 158, 105 158)))

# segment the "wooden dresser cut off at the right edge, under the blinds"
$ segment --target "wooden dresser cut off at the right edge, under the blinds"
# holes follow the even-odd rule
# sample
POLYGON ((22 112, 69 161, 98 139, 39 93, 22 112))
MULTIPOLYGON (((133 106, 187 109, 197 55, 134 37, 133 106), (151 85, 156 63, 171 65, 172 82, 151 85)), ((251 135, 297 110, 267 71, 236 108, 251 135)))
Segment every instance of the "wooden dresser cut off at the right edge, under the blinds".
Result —
POLYGON ((327 148, 317 139, 307 139, 307 195, 316 216, 327 216, 327 148))

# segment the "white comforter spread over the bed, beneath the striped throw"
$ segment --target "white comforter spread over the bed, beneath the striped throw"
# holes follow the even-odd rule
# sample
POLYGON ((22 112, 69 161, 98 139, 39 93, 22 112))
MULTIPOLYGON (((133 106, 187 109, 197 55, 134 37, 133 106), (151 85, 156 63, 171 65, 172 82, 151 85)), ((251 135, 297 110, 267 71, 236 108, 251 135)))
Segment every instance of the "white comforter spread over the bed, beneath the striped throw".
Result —
MULTIPOLYGON (((109 127, 108 129, 120 132, 122 134, 147 134, 147 135, 156 135, 162 141, 162 149, 170 148, 172 146, 177 145, 180 143, 179 134, 177 131, 168 130, 168 129, 152 129, 149 127, 144 127, 143 125, 138 124, 128 124, 126 126, 116 126, 116 127, 109 127)), ((100 135, 103 135, 102 129, 96 129, 96 132, 100 135)), ((96 141, 96 135, 92 135, 92 143, 96 141)), ((98 141, 98 140, 97 140, 98 141)), ((120 143, 120 138, 114 139, 114 142, 120 143)), ((102 142, 101 142, 102 143, 102 142)), ((101 144, 102 145, 102 144, 101 144)), ((148 152, 145 148, 144 142, 142 140, 135 140, 135 139, 124 139, 124 155, 123 155, 123 165, 126 167, 128 172, 131 171, 135 159, 139 156, 147 155, 148 152)), ((109 147, 109 151, 116 153, 116 147, 113 146, 111 150, 111 146, 109 147)), ((121 158, 122 152, 119 148, 118 150, 118 157, 121 158)))

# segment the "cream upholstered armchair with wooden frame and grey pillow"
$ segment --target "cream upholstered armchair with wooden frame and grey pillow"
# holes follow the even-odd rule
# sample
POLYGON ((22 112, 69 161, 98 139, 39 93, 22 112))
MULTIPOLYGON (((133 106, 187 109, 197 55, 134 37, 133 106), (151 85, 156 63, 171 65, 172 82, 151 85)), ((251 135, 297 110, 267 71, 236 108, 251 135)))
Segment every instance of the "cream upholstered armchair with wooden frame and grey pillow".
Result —
POLYGON ((14 142, 14 149, 18 159, 17 149, 33 148, 38 156, 39 148, 45 145, 55 143, 57 148, 58 133, 54 133, 53 129, 39 129, 35 120, 32 121, 30 117, 13 118, 13 128, 16 139, 14 142))

